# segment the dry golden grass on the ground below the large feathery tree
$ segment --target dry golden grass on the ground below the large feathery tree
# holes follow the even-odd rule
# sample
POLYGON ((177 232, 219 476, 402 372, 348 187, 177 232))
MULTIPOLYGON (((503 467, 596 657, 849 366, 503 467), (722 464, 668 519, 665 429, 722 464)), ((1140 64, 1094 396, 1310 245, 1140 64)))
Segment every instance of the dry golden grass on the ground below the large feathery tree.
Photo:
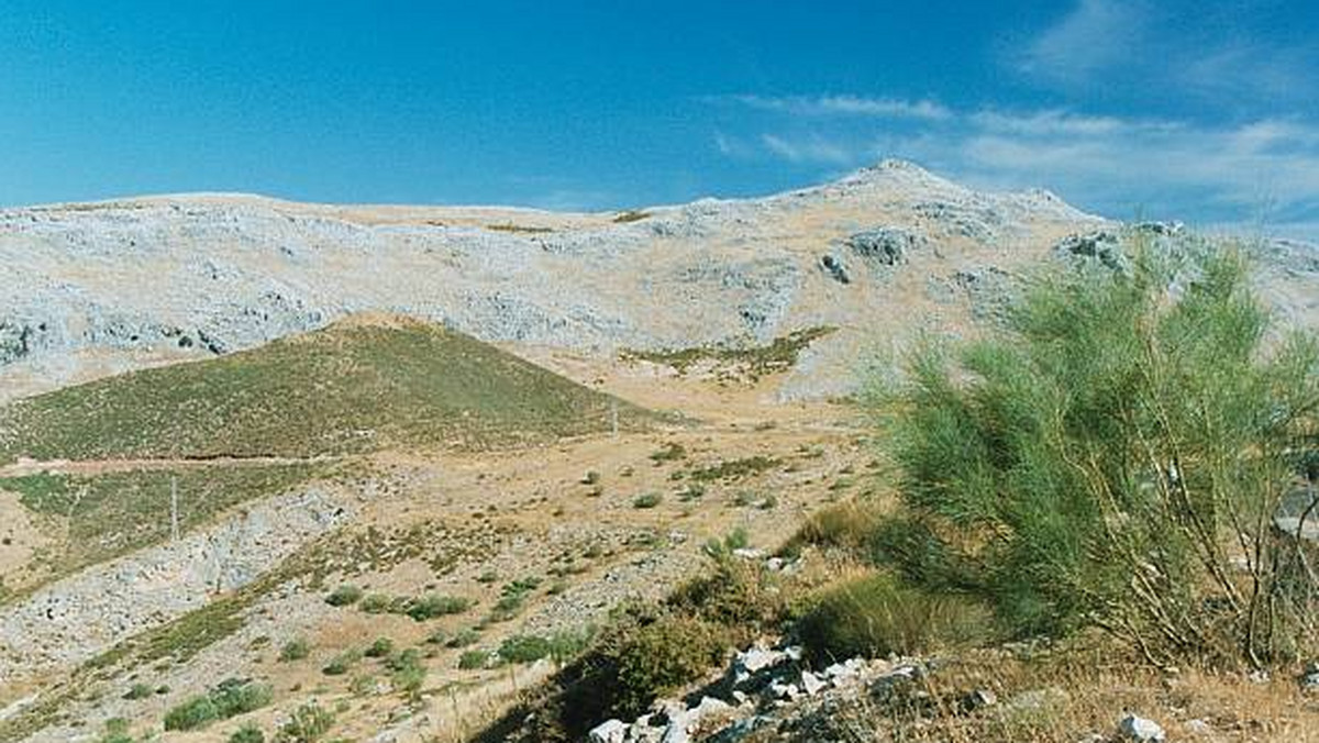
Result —
MULTIPOLYGON (((1291 677, 1254 682, 1232 674, 1169 674, 1124 656, 1108 640, 1028 659, 977 651, 888 698, 860 694, 802 718, 793 740, 1033 742, 1112 740, 1128 713, 1157 721, 1170 740, 1319 740, 1319 699, 1291 677), (976 689, 997 703, 966 711, 976 689)), ((766 735, 754 742, 783 740, 766 735)))

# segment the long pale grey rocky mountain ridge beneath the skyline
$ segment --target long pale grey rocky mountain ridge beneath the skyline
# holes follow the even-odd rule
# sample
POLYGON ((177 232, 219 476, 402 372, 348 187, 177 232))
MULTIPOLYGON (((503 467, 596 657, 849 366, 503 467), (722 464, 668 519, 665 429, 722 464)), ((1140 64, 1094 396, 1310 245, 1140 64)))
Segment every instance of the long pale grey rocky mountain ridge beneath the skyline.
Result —
POLYGON ((627 220, 237 195, 0 210, 0 282, 12 288, 0 297, 0 381, 83 379, 88 358, 119 370, 141 355, 224 354, 365 310, 583 352, 765 343, 864 313, 911 314, 893 289, 900 271, 919 276, 929 267, 917 263, 938 260, 923 245, 955 267, 962 252, 1039 252, 1101 223, 1053 197, 976 193, 898 161, 627 220))

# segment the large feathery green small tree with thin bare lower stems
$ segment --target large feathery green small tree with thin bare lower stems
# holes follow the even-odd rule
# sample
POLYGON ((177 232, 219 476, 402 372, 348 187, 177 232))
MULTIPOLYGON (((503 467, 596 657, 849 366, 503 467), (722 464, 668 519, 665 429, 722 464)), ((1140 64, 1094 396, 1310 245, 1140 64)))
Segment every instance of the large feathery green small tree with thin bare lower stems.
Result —
POLYGON ((1240 252, 1130 252, 1033 280, 989 339, 914 355, 884 400, 905 517, 882 552, 1021 632, 1097 624, 1155 662, 1291 657, 1314 582, 1275 517, 1315 441, 1319 347, 1270 333, 1240 252))

